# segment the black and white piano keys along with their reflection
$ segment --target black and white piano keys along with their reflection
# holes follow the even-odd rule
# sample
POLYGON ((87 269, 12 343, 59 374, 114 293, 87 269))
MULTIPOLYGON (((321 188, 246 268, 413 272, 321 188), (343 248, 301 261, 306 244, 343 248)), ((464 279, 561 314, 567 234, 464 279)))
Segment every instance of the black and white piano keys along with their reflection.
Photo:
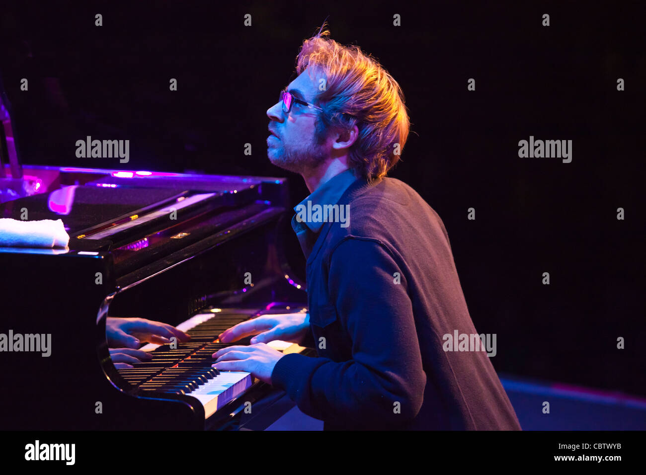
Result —
MULTIPOLYGON (((140 349, 150 352, 151 361, 136 363, 132 368, 123 368, 118 372, 131 386, 144 393, 154 391, 195 397, 202 403, 205 417, 208 418, 254 383, 250 373, 220 372, 211 364, 214 363, 214 352, 239 344, 219 343, 218 335, 256 315, 257 312, 242 309, 212 309, 208 313, 194 315, 177 325, 177 328, 191 335, 191 341, 177 343, 176 349, 171 349, 169 344, 147 344, 140 349)), ((282 341, 269 345, 285 353, 302 350, 298 345, 282 341)))

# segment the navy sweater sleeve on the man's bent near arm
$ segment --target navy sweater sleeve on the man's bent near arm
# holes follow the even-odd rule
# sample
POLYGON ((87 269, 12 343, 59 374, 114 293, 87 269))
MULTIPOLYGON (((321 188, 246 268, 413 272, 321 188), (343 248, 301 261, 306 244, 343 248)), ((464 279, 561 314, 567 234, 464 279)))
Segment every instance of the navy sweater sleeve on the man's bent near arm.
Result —
POLYGON ((401 269, 379 242, 346 238, 331 257, 328 286, 352 359, 286 355, 273 383, 302 412, 324 421, 365 428, 410 421, 421 408, 426 374, 401 269))

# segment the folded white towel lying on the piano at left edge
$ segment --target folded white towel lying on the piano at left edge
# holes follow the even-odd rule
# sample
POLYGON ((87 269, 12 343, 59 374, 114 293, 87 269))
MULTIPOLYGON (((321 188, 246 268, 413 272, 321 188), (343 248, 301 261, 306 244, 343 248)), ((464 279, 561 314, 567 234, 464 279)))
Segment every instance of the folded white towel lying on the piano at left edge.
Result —
POLYGON ((70 236, 63 220, 20 221, 0 218, 0 246, 11 248, 67 248, 70 236))

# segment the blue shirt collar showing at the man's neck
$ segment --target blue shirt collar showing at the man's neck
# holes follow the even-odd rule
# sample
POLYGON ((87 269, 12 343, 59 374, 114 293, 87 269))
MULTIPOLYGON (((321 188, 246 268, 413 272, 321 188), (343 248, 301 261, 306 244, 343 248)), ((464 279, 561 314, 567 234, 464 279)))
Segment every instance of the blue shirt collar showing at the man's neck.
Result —
POLYGON ((317 242, 318 233, 325 222, 322 215, 319 215, 320 220, 311 219, 308 221, 307 209, 312 209, 316 205, 323 207, 324 205, 337 204, 343 193, 355 180, 357 180, 357 177, 351 169, 343 171, 320 185, 311 195, 294 207, 297 214, 291 218, 291 227, 296 233, 305 259, 309 257, 314 244, 317 242), (304 220, 299 221, 298 216, 302 216, 304 220))

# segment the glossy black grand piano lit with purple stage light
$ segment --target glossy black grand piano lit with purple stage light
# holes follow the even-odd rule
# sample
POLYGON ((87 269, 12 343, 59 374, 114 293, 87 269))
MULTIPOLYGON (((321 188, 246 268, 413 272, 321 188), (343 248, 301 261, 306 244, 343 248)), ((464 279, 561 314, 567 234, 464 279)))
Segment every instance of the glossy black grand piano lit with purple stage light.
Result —
POLYGON ((0 333, 51 335, 48 356, 12 342, 0 352, 0 429, 253 429, 279 417, 284 394, 214 370, 211 354, 233 324, 306 311, 284 255, 286 180, 22 165, 3 97, 0 217, 61 219, 70 242, 0 246, 0 333), (150 362, 117 370, 107 317, 167 322, 191 341, 146 345, 150 362))

